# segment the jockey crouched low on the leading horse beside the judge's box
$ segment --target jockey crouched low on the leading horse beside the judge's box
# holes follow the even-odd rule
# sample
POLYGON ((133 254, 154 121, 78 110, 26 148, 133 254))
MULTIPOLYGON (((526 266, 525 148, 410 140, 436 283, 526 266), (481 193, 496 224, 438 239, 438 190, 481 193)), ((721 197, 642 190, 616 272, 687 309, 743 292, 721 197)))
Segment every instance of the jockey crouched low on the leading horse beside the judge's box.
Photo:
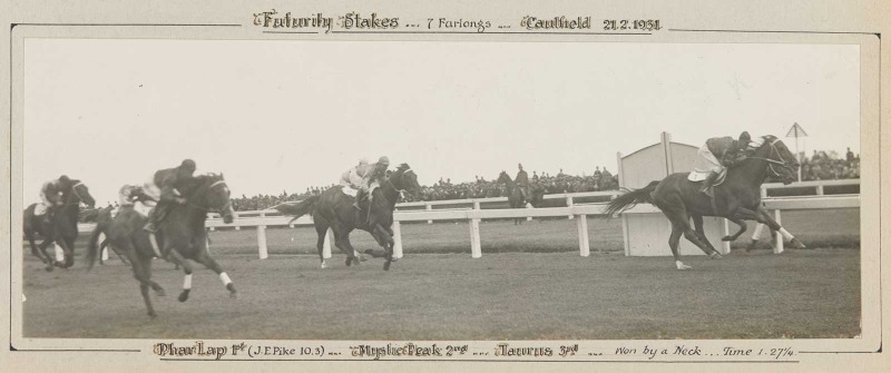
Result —
POLYGON ((746 131, 740 134, 738 140, 730 136, 713 137, 706 140, 705 145, 699 148, 699 158, 695 166, 695 170, 708 173, 699 192, 712 197, 712 185, 715 183, 715 178, 725 167, 733 167, 745 159, 744 150, 751 141, 752 138, 746 131))

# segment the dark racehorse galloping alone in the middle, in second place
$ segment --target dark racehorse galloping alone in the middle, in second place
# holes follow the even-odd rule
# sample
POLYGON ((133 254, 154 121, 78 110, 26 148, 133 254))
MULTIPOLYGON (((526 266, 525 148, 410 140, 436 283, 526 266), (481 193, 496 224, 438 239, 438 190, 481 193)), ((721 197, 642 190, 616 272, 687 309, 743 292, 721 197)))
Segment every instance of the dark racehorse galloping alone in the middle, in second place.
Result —
MULTIPOLYGON (((393 210, 402 192, 410 194, 420 188, 418 176, 407 164, 396 168, 390 177, 381 183, 371 193, 371 203, 363 203, 362 209, 353 207, 353 198, 343 193, 343 186, 333 186, 317 196, 312 196, 297 204, 280 205, 275 209, 285 215, 291 215, 292 222, 296 218, 312 214, 313 225, 319 235, 316 247, 319 258, 322 261, 322 268, 326 267, 325 258, 322 256, 322 248, 325 243, 327 229, 334 233, 334 246, 346 253, 346 266, 352 263, 359 264, 355 249, 350 243, 350 233, 353 229, 362 229, 371 233, 374 241, 384 248, 385 262, 383 269, 389 271, 393 262, 393 210), (365 219, 365 217, 369 217, 365 219)), ((372 254, 371 251, 366 253, 372 254)), ((373 255, 373 254, 372 254, 373 255)))

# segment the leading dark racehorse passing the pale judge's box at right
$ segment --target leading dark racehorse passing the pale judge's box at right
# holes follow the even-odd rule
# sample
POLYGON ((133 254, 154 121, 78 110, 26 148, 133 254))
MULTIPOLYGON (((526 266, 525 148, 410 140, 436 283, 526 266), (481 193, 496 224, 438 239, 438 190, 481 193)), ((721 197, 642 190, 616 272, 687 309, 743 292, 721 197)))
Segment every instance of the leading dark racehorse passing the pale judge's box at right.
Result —
POLYGON ((681 235, 699 247, 713 258, 721 254, 712 246, 703 230, 703 216, 724 217, 740 226, 740 229, 722 238, 734 241, 746 230, 744 220, 756 220, 766 224, 790 241, 793 247, 804 245, 771 217, 761 204, 761 185, 767 177, 782 179, 791 184, 796 179, 799 163, 795 156, 779 138, 763 136, 763 141, 754 150, 747 149, 746 157, 726 171, 724 181, 714 187, 714 199, 699 192, 699 183, 687 179, 689 174, 677 173, 663 180, 652 181, 644 188, 628 190, 617 196, 607 205, 607 216, 614 216, 639 203, 648 203, 658 207, 672 222, 672 234, 668 246, 678 269, 691 266, 681 262, 677 245, 681 235), (694 228, 689 225, 693 217, 694 228))

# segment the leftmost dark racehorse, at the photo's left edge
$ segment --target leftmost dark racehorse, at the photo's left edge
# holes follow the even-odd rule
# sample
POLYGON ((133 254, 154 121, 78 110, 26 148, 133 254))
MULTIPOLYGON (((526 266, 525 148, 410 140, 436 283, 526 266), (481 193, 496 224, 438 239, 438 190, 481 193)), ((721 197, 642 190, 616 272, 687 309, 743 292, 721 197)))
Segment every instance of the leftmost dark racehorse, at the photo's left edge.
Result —
POLYGON ((75 264, 75 241, 77 239, 77 220, 80 214, 80 203, 92 207, 96 199, 90 195, 89 188, 80 180, 71 180, 71 187, 62 190, 62 205, 52 206, 45 214, 50 214, 47 220, 42 215, 36 216, 37 204, 31 204, 25 209, 23 228, 25 237, 31 246, 31 254, 47 264, 46 269, 52 271, 53 266, 68 268, 75 264), (43 237, 40 243, 40 252, 35 245, 35 233, 43 237), (47 247, 57 243, 65 252, 65 262, 56 262, 56 257, 47 253, 47 247))

